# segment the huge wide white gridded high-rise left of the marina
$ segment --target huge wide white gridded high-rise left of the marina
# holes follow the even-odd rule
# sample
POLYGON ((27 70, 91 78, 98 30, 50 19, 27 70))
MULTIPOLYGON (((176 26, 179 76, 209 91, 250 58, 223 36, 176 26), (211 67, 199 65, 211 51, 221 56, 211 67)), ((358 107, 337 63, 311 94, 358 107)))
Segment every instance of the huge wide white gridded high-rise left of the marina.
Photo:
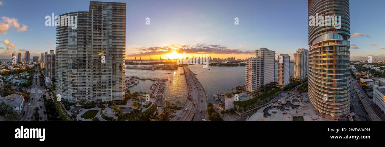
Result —
POLYGON ((72 102, 124 99, 126 3, 90 1, 89 11, 60 16, 81 25, 56 28, 56 93, 72 102))

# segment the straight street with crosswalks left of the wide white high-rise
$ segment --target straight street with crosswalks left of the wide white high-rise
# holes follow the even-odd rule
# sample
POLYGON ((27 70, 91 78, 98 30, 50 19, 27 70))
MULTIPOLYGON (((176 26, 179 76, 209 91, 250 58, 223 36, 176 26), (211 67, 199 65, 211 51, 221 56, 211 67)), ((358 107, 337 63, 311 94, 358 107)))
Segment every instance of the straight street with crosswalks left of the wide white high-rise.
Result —
POLYGON ((37 66, 35 66, 35 67, 36 67, 35 71, 37 71, 37 73, 33 74, 32 86, 31 86, 31 89, 29 89, 30 99, 24 105, 23 109, 25 111, 25 114, 24 114, 23 118, 21 119, 21 121, 30 121, 31 117, 33 116, 33 113, 35 113, 35 107, 39 107, 38 112, 39 112, 40 116, 42 117, 42 119, 39 121, 47 120, 47 114, 44 114, 44 111, 45 111, 44 100, 43 100, 43 98, 41 98, 43 96, 43 93, 45 93, 45 91, 40 86, 40 79, 38 76, 38 74, 40 74, 39 67, 37 67, 37 66), (37 84, 36 84, 36 80, 37 80, 37 84), (33 100, 32 100, 32 98, 33 98, 33 100), (40 106, 41 106, 41 108, 40 108, 40 106))

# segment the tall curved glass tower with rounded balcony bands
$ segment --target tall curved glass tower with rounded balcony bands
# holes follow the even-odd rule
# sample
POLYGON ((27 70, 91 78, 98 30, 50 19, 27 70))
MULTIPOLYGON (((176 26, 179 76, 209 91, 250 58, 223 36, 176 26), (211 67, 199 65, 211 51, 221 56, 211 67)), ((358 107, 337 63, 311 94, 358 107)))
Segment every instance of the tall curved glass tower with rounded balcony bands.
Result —
POLYGON ((325 117, 345 117, 350 112, 349 0, 308 0, 308 7, 309 19, 340 18, 340 26, 309 23, 310 101, 325 117))

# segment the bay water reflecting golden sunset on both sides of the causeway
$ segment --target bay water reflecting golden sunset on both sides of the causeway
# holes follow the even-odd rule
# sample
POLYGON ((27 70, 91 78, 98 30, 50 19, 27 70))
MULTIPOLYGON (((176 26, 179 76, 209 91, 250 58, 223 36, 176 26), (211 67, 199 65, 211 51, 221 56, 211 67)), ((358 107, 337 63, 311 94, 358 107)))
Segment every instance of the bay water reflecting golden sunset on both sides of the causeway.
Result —
MULTIPOLYGON (((221 103, 219 100, 213 99, 213 94, 236 91, 231 90, 239 85, 244 85, 244 69, 245 66, 224 67, 209 66, 203 68, 202 65, 189 65, 191 71, 196 73, 196 77, 203 85, 206 91, 208 101, 213 104, 221 103), (238 82, 241 81, 241 82, 238 82)), ((142 69, 126 69, 126 76, 139 76, 144 78, 168 78, 164 89, 165 100, 169 102, 180 101, 184 104, 187 98, 187 84, 183 68, 177 70, 142 70, 142 69), (171 73, 171 74, 167 74, 171 73), (171 83, 170 83, 171 81, 171 83)), ((137 85, 129 88, 132 92, 147 92, 152 84, 151 80, 140 80, 137 85)), ((222 97, 223 98, 223 97, 222 97)), ((179 104, 179 106, 181 106, 179 104)), ((159 106, 164 106, 158 103, 159 106)))

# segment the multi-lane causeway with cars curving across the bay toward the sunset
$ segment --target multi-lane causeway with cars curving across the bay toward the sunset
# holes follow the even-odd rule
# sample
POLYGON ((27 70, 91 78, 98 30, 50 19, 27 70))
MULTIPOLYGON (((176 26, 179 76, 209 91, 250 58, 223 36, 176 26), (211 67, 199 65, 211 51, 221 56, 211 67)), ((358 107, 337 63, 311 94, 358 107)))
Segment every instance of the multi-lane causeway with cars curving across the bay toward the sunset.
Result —
POLYGON ((172 117, 171 121, 207 120, 208 101, 206 92, 194 73, 187 66, 183 66, 183 70, 186 76, 187 88, 189 89, 188 94, 191 94, 191 100, 187 98, 182 107, 182 112, 172 117))

